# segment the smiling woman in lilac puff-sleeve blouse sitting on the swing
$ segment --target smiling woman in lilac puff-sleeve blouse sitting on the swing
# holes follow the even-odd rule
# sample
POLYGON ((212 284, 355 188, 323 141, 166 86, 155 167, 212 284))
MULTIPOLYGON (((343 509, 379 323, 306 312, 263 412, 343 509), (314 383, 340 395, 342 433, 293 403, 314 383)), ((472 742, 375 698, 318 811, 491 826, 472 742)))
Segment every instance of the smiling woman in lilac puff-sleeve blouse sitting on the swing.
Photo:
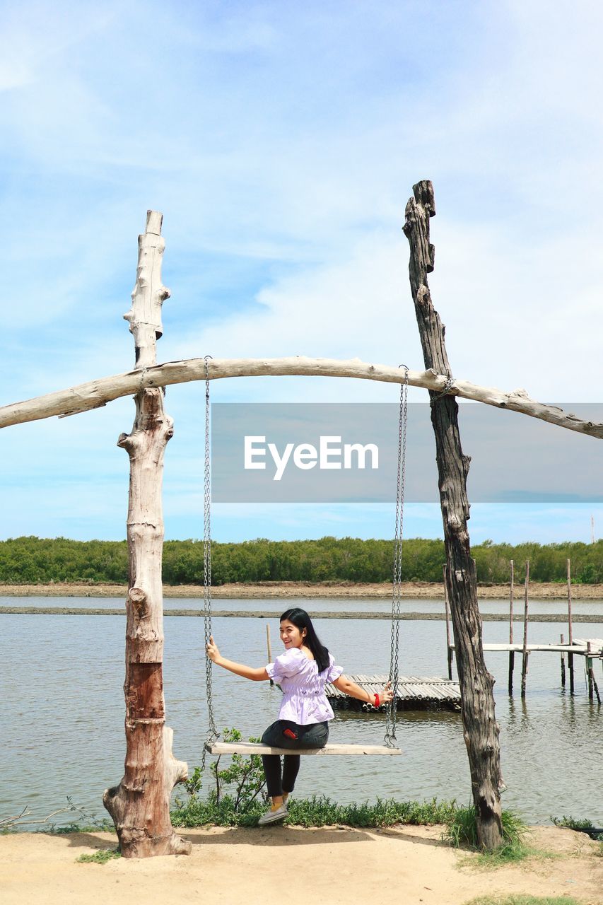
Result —
MULTIPOLYGON (((263 733, 262 742, 273 748, 324 748, 329 738, 329 720, 333 711, 325 695, 330 682, 350 698, 364 700, 379 707, 388 704, 393 694, 390 684, 380 694, 369 694, 356 682, 342 675, 342 668, 327 648, 321 644, 310 616, 298 606, 281 616, 281 641, 285 651, 273 663, 254 668, 226 660, 218 651, 213 637, 207 644, 207 656, 216 666, 252 681, 273 679, 282 688, 279 719, 263 733)), ((300 756, 283 758, 276 754, 262 756, 268 795, 272 798, 270 811, 260 817, 260 824, 273 824, 287 816, 287 799, 293 791, 300 769, 300 756)))

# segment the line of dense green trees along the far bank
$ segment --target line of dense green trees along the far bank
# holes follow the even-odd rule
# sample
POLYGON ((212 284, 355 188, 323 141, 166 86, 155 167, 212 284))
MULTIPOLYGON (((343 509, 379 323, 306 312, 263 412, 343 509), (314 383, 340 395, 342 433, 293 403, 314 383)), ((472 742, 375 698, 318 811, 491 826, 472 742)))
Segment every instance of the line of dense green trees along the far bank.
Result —
MULTIPOLYGON (((493 544, 486 540, 473 548, 480 582, 509 580, 509 561, 515 562, 516 581, 530 559, 532 581, 566 580, 566 560, 572 577, 582 584, 603 582, 603 540, 594 544, 493 544)), ((393 542, 359 538, 319 540, 266 540, 212 546, 213 584, 257 581, 391 580, 393 542)), ((405 541, 402 572, 405 581, 441 581, 444 542, 425 538, 405 541)), ((203 584, 203 542, 168 540, 164 547, 163 575, 167 585, 203 584)), ((0 541, 0 582, 117 582, 128 575, 126 541, 69 540, 68 538, 11 538, 0 541)))

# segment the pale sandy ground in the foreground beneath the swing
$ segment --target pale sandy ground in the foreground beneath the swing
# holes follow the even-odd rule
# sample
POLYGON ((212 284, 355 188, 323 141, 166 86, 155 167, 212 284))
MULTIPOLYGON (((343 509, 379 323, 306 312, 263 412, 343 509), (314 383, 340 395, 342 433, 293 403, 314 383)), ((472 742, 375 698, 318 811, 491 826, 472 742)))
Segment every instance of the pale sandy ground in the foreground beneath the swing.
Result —
POLYGON ((441 828, 203 829, 189 856, 79 863, 115 847, 110 834, 0 837, 3 905, 462 905, 475 896, 571 895, 603 903, 599 843, 555 827, 531 831, 549 857, 495 870, 440 842, 441 828))

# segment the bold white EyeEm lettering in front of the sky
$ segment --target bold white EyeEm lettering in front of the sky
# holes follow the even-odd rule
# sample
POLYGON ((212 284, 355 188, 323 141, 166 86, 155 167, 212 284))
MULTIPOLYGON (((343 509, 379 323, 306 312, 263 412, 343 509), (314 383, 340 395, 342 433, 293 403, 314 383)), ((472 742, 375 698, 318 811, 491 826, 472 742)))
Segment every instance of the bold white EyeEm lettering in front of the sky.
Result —
POLYGON ((321 436, 318 449, 313 443, 285 443, 282 452, 276 443, 266 443, 265 436, 244 438, 244 468, 265 469, 268 453, 273 460, 273 481, 280 481, 292 462, 303 472, 318 466, 328 469, 378 469, 379 451, 376 443, 341 443, 340 436, 321 436), (369 464, 368 464, 369 462, 369 464))

